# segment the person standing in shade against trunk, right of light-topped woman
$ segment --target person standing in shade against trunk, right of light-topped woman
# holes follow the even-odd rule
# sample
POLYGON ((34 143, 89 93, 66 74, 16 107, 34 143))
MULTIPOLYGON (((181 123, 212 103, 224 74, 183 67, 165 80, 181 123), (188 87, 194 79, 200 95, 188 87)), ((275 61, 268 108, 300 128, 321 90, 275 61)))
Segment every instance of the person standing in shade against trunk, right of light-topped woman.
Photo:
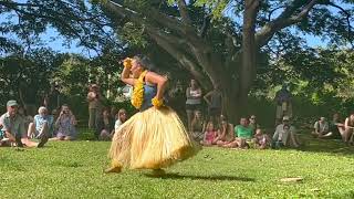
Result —
POLYGON ((220 125, 222 94, 219 85, 215 85, 214 91, 207 93, 204 100, 208 104, 209 117, 212 117, 217 122, 217 125, 220 125))

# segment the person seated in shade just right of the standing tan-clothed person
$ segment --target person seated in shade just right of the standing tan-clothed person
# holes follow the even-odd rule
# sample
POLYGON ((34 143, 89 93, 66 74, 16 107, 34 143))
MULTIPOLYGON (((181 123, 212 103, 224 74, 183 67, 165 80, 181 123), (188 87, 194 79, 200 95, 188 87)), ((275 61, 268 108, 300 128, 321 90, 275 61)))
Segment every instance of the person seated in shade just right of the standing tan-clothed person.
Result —
POLYGON ((114 118, 111 117, 110 109, 104 109, 102 119, 98 122, 100 139, 110 140, 112 138, 112 130, 114 130, 114 118))

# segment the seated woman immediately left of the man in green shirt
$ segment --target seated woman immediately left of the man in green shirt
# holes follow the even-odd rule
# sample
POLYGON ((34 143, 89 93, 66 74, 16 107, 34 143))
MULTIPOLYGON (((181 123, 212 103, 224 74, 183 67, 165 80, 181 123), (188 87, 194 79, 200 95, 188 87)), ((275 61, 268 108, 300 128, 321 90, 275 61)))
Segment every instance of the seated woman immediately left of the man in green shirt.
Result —
POLYGON ((220 121, 221 121, 221 127, 216 140, 219 146, 222 146, 235 139, 233 125, 228 122, 228 118, 225 115, 220 115, 220 121))

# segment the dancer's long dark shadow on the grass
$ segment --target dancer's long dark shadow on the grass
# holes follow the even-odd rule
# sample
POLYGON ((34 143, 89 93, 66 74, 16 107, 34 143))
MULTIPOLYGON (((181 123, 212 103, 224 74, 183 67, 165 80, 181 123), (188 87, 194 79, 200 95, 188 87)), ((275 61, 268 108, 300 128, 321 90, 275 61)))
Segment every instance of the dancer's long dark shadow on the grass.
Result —
POLYGON ((191 176, 191 175, 179 175, 174 172, 167 172, 163 176, 155 176, 152 174, 145 174, 149 178, 162 178, 162 179, 191 179, 191 180, 223 180, 223 181, 256 181, 254 178, 237 177, 237 176, 191 176))

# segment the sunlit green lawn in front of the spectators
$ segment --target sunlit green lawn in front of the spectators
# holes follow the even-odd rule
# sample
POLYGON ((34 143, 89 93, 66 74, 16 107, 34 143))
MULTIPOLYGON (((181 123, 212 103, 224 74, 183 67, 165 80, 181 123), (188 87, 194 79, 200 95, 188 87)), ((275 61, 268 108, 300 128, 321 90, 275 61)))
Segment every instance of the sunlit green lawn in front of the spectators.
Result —
POLYGON ((167 169, 104 174, 110 143, 0 148, 0 198, 353 198, 352 148, 306 140, 302 150, 204 148, 167 169), (300 182, 281 182, 301 177, 300 182))

